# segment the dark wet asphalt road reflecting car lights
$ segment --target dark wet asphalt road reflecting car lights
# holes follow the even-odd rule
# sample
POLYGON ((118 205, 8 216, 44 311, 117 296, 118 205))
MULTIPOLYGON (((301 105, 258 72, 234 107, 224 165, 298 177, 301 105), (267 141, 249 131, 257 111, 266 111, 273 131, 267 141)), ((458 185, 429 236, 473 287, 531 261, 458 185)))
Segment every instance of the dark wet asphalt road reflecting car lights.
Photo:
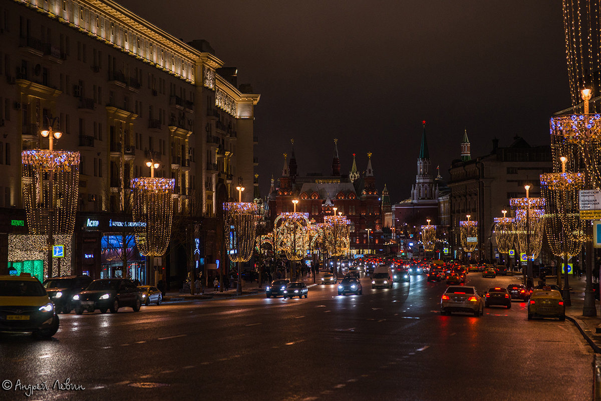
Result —
MULTIPOLYGON (((572 323, 528 321, 520 302, 441 316, 444 283, 362 281, 361 296, 317 286, 307 299, 61 315, 49 341, 0 335, 0 399, 591 399, 593 353, 572 323), (85 389, 58 390, 67 379, 85 389)), ((467 284, 514 281, 471 273, 467 284)))

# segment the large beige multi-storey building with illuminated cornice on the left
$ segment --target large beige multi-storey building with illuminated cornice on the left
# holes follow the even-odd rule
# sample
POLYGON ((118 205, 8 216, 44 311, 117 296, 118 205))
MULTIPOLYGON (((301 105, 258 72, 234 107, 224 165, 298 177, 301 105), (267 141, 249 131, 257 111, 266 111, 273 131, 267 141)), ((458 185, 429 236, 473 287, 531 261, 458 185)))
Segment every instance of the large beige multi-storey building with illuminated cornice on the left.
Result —
MULTIPOLYGON (((196 224, 219 215, 239 179, 251 187, 259 95, 206 41, 185 43, 112 1, 6 1, 0 20, 0 207, 23 209, 20 154, 47 148, 39 133, 49 126, 63 133, 55 149, 81 153, 79 225, 96 213, 131 220, 130 180, 149 176, 151 159, 156 177, 175 180, 175 216, 196 224)), ((74 255, 73 272, 99 278, 103 263, 82 267, 90 252, 74 255)), ((177 254, 163 269, 186 266, 177 254)), ((163 278, 183 274, 171 268, 163 278)))

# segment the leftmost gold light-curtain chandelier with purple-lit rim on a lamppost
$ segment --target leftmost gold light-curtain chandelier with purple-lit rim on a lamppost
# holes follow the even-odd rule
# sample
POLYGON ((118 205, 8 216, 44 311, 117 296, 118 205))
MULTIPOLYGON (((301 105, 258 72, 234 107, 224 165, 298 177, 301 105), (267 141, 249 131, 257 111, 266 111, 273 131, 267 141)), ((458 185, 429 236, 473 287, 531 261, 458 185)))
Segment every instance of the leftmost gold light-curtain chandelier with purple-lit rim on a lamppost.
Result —
POLYGON ((49 224, 52 224, 55 234, 73 234, 79 190, 79 152, 34 149, 24 150, 21 157, 29 233, 47 234, 49 224), (50 191, 53 206, 50 205, 50 191), (50 208, 54 210, 52 223, 49 222, 50 208))

